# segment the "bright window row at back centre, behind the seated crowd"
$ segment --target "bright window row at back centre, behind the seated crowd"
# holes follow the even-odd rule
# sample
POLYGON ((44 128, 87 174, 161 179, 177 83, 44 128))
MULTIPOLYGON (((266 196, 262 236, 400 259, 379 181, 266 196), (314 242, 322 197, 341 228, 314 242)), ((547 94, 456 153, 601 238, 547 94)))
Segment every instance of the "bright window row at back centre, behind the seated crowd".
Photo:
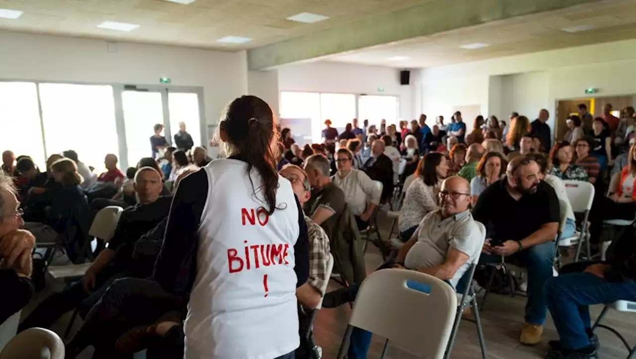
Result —
POLYGON ((396 96, 355 95, 353 93, 291 92, 280 93, 280 116, 283 127, 291 128, 296 142, 320 143, 324 121, 342 133, 354 118, 368 119, 379 129, 380 121, 397 125, 399 99, 396 96), (299 138, 301 140, 299 140, 299 138))

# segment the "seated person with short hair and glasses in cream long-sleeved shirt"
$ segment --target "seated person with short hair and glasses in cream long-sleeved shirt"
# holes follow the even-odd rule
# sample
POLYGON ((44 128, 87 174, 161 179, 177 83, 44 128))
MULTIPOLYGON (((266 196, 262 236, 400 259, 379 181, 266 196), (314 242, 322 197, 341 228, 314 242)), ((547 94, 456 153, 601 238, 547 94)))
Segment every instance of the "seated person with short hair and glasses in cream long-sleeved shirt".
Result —
POLYGON ((361 170, 353 168, 352 159, 353 155, 348 149, 336 152, 338 172, 331 177, 331 181, 345 193, 345 201, 356 217, 358 229, 363 230, 369 226, 373 210, 380 204, 382 191, 380 184, 361 170))

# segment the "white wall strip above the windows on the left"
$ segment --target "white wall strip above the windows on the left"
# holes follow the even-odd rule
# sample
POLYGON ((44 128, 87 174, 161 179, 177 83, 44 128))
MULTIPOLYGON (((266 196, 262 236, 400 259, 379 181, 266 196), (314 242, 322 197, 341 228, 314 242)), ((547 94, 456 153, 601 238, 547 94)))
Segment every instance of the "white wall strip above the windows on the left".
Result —
POLYGON ((0 79, 160 85, 165 76, 174 86, 202 86, 208 124, 247 93, 244 52, 133 43, 109 52, 106 41, 7 31, 0 31, 0 48, 0 79))

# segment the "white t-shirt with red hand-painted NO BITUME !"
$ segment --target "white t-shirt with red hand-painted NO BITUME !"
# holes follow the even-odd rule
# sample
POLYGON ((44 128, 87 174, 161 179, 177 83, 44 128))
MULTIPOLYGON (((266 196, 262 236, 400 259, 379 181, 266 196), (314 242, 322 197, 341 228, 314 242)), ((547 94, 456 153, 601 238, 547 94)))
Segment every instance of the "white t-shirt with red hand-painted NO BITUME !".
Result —
POLYGON ((279 177, 270 216, 260 176, 238 159, 216 159, 198 230, 197 276, 184 324, 186 359, 272 359, 300 344, 294 244, 299 212, 279 177), (280 209, 278 209, 280 208, 280 209), (273 249, 275 248, 275 249, 273 249))

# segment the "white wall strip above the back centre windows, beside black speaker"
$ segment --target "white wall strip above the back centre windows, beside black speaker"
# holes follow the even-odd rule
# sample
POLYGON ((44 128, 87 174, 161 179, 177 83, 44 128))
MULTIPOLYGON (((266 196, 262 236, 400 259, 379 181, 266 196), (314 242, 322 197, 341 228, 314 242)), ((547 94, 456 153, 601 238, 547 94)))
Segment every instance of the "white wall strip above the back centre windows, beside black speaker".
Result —
POLYGON ((399 97, 400 118, 415 118, 413 100, 419 81, 418 71, 411 71, 411 85, 399 84, 399 70, 390 67, 306 62, 278 68, 280 91, 364 93, 399 97), (378 89, 383 88, 384 91, 378 89))

